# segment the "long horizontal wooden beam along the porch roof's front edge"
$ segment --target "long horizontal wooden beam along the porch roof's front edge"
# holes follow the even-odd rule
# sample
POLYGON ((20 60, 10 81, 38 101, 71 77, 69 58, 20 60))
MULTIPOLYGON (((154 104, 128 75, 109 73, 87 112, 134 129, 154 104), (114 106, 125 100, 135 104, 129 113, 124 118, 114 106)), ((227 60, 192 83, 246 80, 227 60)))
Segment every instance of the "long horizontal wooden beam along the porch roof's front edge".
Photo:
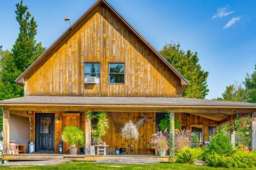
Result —
POLYGON ((4 105, 9 111, 94 111, 94 112, 175 112, 175 113, 256 113, 256 108, 240 106, 170 106, 170 105, 67 105, 67 104, 15 104, 4 105))

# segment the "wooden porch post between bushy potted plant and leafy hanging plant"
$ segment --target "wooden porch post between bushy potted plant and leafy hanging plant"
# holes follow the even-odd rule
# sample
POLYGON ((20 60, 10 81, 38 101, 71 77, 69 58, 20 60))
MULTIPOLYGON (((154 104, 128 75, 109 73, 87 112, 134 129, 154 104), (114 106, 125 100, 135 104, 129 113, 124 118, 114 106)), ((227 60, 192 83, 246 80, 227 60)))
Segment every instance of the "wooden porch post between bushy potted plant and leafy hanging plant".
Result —
POLYGON ((85 154, 90 155, 91 146, 91 118, 90 111, 85 112, 85 154))

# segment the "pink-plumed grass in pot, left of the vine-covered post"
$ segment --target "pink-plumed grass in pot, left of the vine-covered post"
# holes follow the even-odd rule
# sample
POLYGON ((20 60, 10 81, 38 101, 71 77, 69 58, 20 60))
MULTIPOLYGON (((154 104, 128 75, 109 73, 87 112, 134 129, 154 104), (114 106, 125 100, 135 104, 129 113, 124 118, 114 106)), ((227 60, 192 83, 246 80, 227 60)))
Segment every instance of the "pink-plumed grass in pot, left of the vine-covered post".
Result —
POLYGON ((169 133, 165 130, 153 134, 150 143, 156 147, 159 156, 165 156, 166 150, 169 149, 169 133))

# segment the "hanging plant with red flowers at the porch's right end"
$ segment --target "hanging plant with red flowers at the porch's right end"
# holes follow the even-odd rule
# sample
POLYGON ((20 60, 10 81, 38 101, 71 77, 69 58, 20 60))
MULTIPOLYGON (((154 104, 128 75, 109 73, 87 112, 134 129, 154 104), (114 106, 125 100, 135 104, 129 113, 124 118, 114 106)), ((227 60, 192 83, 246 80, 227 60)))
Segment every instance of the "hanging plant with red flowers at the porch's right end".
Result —
POLYGON ((234 131, 243 131, 245 135, 250 135, 251 131, 251 123, 250 120, 247 118, 241 118, 239 115, 236 116, 235 121, 230 121, 227 124, 228 131, 233 133, 234 131))

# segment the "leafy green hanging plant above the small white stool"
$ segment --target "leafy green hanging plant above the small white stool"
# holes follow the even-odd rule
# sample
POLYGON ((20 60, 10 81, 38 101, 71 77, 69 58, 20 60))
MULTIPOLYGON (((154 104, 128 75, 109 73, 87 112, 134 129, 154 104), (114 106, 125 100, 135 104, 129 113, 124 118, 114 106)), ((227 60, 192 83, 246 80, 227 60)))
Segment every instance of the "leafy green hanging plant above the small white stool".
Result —
POLYGON ((91 126, 91 135, 93 142, 96 144, 102 143, 101 137, 105 135, 109 128, 109 120, 106 112, 98 112, 94 114, 90 112, 91 122, 97 122, 91 126))

